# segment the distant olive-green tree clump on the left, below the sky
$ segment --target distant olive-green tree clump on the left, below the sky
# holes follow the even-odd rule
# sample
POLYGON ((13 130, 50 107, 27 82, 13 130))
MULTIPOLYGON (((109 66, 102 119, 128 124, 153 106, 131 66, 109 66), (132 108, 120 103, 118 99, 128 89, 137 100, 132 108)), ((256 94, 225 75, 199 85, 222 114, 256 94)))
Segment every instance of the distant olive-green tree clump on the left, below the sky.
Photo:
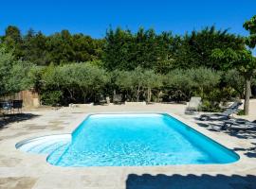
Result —
POLYGON ((45 36, 40 31, 29 29, 22 36, 16 26, 8 26, 1 41, 7 44, 8 50, 13 51, 16 60, 28 60, 38 65, 100 60, 104 45, 104 40, 83 34, 72 35, 68 30, 45 36))

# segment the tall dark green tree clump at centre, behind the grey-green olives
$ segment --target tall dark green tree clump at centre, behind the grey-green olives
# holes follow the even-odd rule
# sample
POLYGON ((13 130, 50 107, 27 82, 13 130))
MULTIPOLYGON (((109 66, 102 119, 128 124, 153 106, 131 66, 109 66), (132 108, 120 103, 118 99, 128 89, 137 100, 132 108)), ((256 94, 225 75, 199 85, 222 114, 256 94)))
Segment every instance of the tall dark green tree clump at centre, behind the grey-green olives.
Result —
POLYGON ((166 72, 173 61, 174 37, 171 33, 155 34, 154 29, 109 29, 103 48, 104 66, 107 70, 134 70, 137 67, 166 72))

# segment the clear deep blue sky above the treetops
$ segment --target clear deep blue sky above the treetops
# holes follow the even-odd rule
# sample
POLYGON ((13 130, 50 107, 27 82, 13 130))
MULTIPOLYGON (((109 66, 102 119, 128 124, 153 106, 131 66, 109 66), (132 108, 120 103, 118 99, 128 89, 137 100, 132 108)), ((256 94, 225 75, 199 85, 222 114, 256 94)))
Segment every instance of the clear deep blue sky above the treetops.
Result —
POLYGON ((9 25, 25 33, 33 28, 52 34, 62 29, 104 36, 109 26, 153 27, 184 34, 215 25, 247 35, 245 20, 256 14, 256 0, 12 0, 1 2, 0 34, 9 25))

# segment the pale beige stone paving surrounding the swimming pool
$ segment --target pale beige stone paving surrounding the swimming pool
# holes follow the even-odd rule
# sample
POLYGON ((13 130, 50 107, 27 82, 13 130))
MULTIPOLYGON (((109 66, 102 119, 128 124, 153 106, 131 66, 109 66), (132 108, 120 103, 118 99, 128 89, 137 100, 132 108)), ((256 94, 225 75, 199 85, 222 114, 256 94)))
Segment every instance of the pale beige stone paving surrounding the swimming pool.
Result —
MULTIPOLYGON (((256 103, 251 106, 256 119, 256 103)), ((0 129, 1 189, 255 189, 256 132, 220 131, 221 122, 201 122, 184 114, 177 104, 109 105, 37 109, 0 129), (32 137, 70 133, 88 113, 167 112, 220 144, 234 149, 240 160, 229 164, 193 164, 141 167, 57 167, 46 156, 28 154, 15 144, 32 137), (23 118, 21 118, 23 119, 23 118), (27 120, 25 120, 27 119, 27 120)), ((184 154, 186 155, 186 154, 184 154)))

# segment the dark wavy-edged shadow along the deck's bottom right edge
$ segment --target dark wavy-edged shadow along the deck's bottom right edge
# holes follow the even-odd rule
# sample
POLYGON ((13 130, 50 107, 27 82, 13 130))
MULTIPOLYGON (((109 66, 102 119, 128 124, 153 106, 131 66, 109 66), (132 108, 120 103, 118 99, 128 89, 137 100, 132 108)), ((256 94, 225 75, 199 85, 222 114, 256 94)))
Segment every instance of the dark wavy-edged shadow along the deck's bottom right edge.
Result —
POLYGON ((126 189, 255 189, 254 175, 128 175, 126 189))

